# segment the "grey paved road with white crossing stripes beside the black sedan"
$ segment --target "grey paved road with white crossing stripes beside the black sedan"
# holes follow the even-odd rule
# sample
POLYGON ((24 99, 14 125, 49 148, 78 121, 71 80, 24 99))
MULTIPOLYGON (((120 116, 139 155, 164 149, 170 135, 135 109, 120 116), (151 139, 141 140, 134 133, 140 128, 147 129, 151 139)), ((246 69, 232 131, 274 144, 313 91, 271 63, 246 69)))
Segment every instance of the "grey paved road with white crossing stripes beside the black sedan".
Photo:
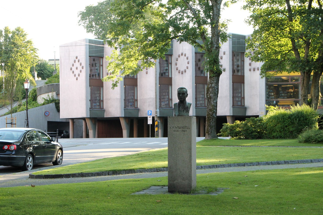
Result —
MULTIPOLYGON (((203 138, 198 138, 197 141, 203 138)), ((129 155, 151 149, 168 146, 167 138, 87 138, 87 139, 59 139, 63 145, 64 157, 62 166, 82 163, 86 161, 129 155)), ((35 165, 35 170, 54 168, 52 163, 35 165)), ((29 172, 29 171, 27 171, 29 172)), ((19 178, 20 168, 0 166, 0 176, 15 173, 19 178)), ((22 173, 23 174, 23 173, 22 173)), ((29 173, 28 173, 29 174, 29 173)), ((24 175, 24 174, 23 174, 24 175)))

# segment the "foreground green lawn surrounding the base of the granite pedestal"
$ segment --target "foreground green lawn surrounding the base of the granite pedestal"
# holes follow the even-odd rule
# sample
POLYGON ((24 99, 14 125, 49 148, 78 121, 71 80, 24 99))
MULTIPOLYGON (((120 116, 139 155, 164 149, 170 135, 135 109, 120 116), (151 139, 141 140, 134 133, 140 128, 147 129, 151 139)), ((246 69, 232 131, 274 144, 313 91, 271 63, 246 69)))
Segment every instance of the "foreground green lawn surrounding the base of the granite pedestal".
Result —
POLYGON ((166 177, 0 188, 0 214, 315 215, 323 214, 322 176, 323 168, 198 175, 198 188, 230 188, 217 196, 130 195, 166 177))

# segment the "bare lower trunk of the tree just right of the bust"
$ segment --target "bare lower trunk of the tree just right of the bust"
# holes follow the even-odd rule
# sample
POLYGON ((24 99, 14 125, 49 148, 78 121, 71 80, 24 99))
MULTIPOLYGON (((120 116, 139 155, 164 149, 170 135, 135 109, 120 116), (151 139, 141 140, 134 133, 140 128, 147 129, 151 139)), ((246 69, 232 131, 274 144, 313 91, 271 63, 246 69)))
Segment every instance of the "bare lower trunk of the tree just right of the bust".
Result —
POLYGON ((206 123, 205 139, 218 138, 216 136, 216 113, 219 95, 220 73, 215 73, 209 77, 206 87, 206 123))

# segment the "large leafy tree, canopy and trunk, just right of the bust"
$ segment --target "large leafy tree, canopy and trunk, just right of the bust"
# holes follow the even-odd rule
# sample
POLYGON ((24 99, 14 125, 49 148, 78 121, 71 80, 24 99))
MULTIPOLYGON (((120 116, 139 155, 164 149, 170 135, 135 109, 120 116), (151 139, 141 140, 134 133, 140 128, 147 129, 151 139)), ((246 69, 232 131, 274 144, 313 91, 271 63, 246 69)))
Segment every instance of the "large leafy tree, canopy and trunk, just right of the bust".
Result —
POLYGON ((221 4, 222 0, 107 0, 81 11, 79 24, 114 49, 107 56, 111 75, 103 78, 113 87, 125 75, 154 67, 154 59, 164 58, 172 40, 205 51, 209 73, 205 138, 217 138, 220 38, 227 40, 226 24, 220 23, 221 4))

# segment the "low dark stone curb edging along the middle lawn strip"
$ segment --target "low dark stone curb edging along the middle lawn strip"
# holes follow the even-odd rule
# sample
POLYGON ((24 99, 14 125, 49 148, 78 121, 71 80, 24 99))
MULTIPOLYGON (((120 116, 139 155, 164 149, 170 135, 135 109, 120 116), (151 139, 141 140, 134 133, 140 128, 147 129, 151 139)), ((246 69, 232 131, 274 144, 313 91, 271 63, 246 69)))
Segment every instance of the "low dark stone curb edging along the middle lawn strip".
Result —
MULTIPOLYGON (((196 169, 214 169, 214 168, 224 168, 224 167, 250 167, 250 166, 262 166, 262 165, 281 165, 281 164, 319 163, 319 162, 323 162, 323 159, 279 160, 279 161, 251 162, 251 163, 202 165, 202 166, 196 166, 196 169)), ((121 170, 121 171, 68 173, 68 174, 54 174, 54 175, 29 174, 29 178, 30 179, 83 178, 83 177, 112 176, 112 175, 125 175, 125 174, 133 174, 133 173, 150 173, 150 172, 167 172, 167 171, 168 171, 168 168, 166 167, 166 168, 129 169, 129 170, 121 170)))

